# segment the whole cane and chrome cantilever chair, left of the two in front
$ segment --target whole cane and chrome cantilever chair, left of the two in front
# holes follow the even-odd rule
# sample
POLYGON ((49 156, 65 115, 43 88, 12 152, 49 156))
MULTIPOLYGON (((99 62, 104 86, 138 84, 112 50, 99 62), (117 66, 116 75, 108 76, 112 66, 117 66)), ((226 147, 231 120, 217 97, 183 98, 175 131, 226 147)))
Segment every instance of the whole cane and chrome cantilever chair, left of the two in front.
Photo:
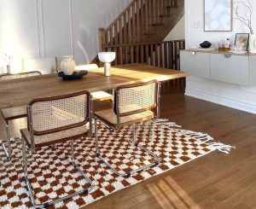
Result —
MULTIPOLYGON (((56 202, 67 200, 74 195, 87 193, 92 189, 92 183, 84 172, 75 163, 73 141, 88 135, 84 125, 89 122, 91 127, 92 99, 90 92, 81 91, 66 96, 55 96, 44 99, 35 99, 27 105, 27 129, 20 130, 22 140, 23 168, 26 185, 29 191, 32 205, 35 207, 47 207, 56 202), (90 187, 73 194, 61 197, 58 200, 36 205, 32 186, 27 175, 26 146, 31 149, 53 145, 55 143, 70 141, 71 160, 73 167, 90 183, 90 187)), ((90 135, 90 134, 89 134, 90 135)))

